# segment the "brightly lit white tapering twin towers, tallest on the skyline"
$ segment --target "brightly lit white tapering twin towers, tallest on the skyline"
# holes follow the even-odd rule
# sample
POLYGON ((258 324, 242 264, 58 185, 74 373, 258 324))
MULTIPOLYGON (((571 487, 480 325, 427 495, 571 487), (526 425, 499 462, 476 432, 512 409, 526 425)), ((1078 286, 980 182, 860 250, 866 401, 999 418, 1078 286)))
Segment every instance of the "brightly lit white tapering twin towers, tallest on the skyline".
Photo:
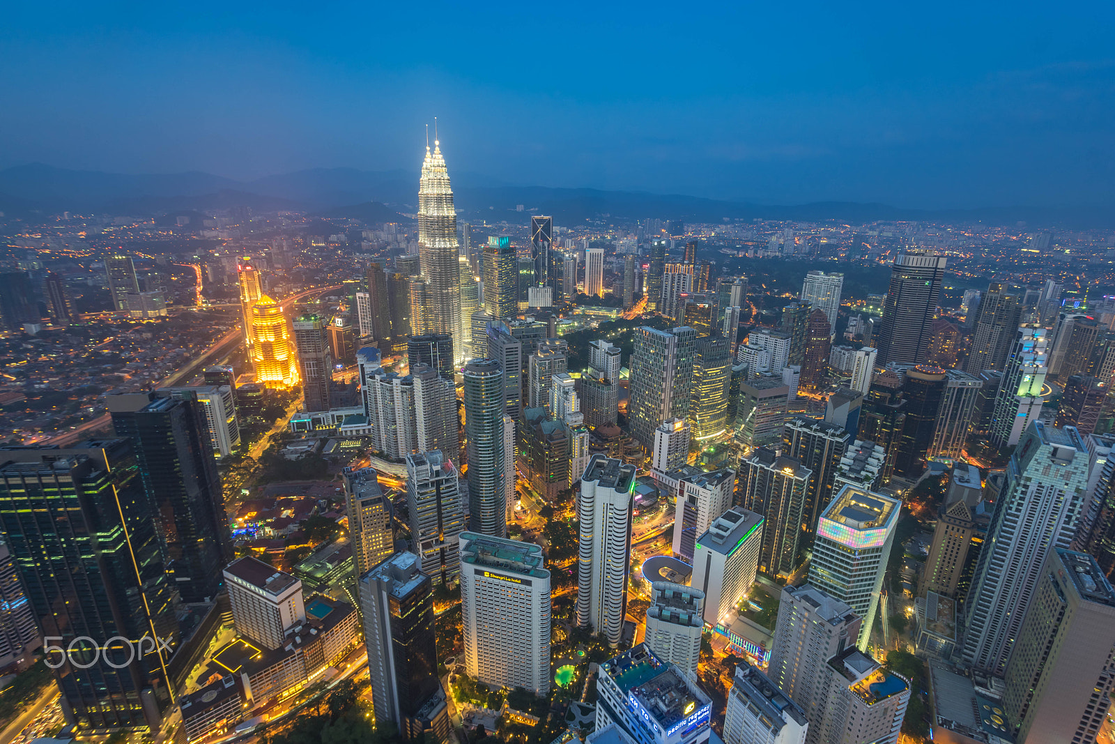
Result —
POLYGON ((465 358, 460 332, 460 269, 457 263, 457 213, 445 158, 437 139, 434 152, 426 146, 418 182, 418 255, 426 280, 426 334, 453 337, 455 361, 465 358))

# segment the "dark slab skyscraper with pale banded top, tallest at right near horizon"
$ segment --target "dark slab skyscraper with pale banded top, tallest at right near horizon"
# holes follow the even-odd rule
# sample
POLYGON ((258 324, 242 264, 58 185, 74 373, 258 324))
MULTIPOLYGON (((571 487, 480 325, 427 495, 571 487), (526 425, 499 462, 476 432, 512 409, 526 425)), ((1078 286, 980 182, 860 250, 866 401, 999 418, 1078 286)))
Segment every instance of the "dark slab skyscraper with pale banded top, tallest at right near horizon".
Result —
POLYGON ((876 365, 890 361, 923 364, 929 352, 930 328, 941 299, 946 258, 933 251, 899 253, 891 269, 891 286, 883 319, 875 337, 876 365))

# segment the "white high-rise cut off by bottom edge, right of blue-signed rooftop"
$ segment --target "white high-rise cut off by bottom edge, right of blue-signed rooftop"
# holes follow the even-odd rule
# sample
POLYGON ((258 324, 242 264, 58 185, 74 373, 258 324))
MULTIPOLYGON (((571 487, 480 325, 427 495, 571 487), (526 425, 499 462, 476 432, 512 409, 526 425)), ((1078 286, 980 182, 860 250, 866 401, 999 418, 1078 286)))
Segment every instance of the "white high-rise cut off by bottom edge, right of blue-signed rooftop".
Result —
POLYGON ((805 744, 809 722, 765 674, 736 667, 724 714, 724 744, 805 744))

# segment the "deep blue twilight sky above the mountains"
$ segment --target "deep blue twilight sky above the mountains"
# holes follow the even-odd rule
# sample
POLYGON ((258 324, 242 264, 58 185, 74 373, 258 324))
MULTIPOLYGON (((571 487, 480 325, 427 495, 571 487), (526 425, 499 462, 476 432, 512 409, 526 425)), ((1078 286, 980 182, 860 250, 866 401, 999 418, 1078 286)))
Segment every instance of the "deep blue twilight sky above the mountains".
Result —
POLYGON ((1115 3, 21 2, 0 167, 1115 201, 1115 3))

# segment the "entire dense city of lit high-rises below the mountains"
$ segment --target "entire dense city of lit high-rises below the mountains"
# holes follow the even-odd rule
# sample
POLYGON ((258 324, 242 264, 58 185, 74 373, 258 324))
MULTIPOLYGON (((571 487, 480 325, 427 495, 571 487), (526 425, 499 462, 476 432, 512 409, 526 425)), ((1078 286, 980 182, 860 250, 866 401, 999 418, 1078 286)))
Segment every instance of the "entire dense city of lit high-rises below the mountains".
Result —
POLYGON ((1109 741, 1115 233, 371 206, 3 222, 13 732, 1109 741))

